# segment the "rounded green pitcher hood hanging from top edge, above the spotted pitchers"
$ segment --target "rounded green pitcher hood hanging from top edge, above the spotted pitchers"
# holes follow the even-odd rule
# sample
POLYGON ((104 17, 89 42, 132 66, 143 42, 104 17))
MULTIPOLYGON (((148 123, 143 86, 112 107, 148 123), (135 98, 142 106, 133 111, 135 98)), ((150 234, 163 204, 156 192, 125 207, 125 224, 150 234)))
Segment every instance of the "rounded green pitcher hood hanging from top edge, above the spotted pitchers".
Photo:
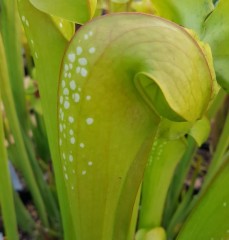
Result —
POLYGON ((30 2, 40 11, 82 24, 93 17, 97 0, 30 0, 30 2))

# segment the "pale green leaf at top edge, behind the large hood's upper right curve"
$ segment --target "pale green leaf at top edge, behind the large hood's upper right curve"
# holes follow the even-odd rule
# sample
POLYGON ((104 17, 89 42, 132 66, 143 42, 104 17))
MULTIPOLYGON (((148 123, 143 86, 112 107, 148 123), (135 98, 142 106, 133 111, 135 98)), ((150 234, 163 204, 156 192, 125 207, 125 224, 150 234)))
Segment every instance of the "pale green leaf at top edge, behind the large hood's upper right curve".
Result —
POLYGON ((159 16, 202 32, 203 22, 214 9, 211 0, 151 0, 159 16))

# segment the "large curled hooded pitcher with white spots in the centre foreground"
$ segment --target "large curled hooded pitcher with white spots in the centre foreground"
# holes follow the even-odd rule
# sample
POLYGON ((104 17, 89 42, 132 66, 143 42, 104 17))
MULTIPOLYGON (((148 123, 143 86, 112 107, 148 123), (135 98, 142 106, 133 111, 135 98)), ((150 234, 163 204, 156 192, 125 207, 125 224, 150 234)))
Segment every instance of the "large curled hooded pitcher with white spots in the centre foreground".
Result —
POLYGON ((114 14, 77 32, 63 60, 58 116, 78 239, 127 239, 160 115, 201 117, 212 99, 209 67, 187 31, 158 17, 114 14))

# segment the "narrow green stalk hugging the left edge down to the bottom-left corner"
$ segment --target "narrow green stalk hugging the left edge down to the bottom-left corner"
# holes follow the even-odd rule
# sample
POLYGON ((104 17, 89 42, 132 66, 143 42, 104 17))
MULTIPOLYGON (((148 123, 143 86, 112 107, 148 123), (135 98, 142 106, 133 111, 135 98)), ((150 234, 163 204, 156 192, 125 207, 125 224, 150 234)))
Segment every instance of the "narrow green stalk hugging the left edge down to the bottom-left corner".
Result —
MULTIPOLYGON (((0 59, 2 56, 2 43, 0 35, 0 59)), ((1 67, 0 67, 1 68, 1 67)), ((2 80, 3 74, 0 70, 0 81, 2 80)), ((2 104, 1 94, 0 94, 0 104, 2 104)), ((6 230, 6 235, 8 239, 17 240, 17 221, 15 214, 15 207, 13 201, 13 191, 10 179, 7 152, 4 146, 4 132, 3 132, 3 120, 2 111, 0 110, 0 203, 2 207, 4 227, 6 230)))

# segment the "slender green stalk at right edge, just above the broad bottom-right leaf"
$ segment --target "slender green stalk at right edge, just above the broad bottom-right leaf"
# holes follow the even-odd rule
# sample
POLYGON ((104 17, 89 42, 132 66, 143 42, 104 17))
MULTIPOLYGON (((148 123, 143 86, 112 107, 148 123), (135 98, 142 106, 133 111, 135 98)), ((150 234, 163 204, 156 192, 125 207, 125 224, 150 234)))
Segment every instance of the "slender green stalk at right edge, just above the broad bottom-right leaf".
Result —
POLYGON ((224 127, 222 130, 222 133, 220 135, 216 150, 213 154, 209 169, 208 169, 208 173, 207 176, 205 178, 204 181, 204 186, 206 187, 209 182, 211 181, 211 179, 214 177, 214 175, 216 174, 216 172, 219 170, 219 168, 222 166, 222 164, 224 163, 223 160, 223 155, 226 152, 226 150, 228 149, 229 146, 229 111, 227 113, 227 117, 224 123, 224 127))

